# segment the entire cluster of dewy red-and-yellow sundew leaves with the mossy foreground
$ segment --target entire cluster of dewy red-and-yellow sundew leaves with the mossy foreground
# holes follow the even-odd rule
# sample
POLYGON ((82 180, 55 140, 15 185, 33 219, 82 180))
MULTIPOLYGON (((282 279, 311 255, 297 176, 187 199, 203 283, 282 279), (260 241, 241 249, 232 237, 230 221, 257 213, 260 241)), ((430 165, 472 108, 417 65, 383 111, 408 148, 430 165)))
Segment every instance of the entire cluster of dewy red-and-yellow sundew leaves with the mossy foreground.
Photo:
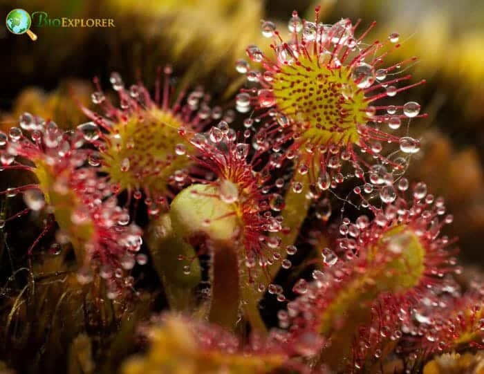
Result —
POLYGON ((483 371, 484 283, 407 173, 417 57, 319 6, 252 28, 223 99, 113 72, 0 132, 1 373, 483 371))

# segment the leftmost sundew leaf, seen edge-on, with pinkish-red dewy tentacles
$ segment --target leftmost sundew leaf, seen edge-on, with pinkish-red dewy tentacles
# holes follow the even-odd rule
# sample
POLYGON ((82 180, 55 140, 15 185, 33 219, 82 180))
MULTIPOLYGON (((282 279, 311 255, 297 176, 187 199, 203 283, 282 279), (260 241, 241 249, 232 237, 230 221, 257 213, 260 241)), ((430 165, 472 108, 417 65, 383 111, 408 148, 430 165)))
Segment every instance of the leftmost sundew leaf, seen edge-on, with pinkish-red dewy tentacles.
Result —
POLYGON ((28 211, 46 209, 52 214, 59 224, 55 247, 71 242, 76 254, 82 254, 77 259, 80 283, 100 274, 109 285, 109 297, 119 296, 133 284, 126 271, 136 261, 146 263, 147 257, 136 254, 141 232, 130 224, 127 209, 118 207, 115 189, 90 167, 92 151, 84 147, 86 136, 79 131, 66 133, 55 122, 30 113, 22 114, 19 124, 8 135, 0 133, 1 169, 31 171, 38 183, 10 188, 4 194, 21 193, 28 211))

